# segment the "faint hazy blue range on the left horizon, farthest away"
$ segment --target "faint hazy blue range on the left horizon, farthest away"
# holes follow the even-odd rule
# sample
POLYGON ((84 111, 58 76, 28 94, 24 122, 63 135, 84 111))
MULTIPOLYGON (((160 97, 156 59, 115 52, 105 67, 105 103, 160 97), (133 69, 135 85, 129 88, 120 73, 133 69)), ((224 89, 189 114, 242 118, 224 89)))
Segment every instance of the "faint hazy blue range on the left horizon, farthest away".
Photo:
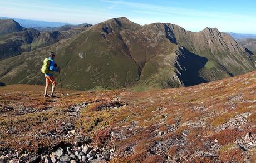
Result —
POLYGON ((8 17, 0 17, 0 19, 13 19, 18 22, 22 27, 32 28, 32 27, 61 27, 70 23, 61 23, 61 22, 47 22, 47 21, 36 21, 29 19, 19 19, 19 18, 8 18, 8 17))

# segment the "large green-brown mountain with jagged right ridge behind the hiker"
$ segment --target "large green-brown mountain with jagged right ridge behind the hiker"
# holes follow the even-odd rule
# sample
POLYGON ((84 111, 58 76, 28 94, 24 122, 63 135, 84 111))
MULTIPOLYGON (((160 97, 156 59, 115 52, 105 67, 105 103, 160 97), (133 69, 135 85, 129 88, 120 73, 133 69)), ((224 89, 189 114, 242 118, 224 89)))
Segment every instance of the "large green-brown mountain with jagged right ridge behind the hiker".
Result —
POLYGON ((37 70, 43 54, 56 46, 62 46, 56 62, 63 71, 63 85, 77 90, 191 86, 256 70, 254 55, 216 28, 194 33, 169 23, 140 26, 121 17, 65 42, 1 61, 0 80, 43 83, 37 70), (38 67, 27 67, 28 62, 38 67), (27 72, 32 79, 22 75, 27 72))

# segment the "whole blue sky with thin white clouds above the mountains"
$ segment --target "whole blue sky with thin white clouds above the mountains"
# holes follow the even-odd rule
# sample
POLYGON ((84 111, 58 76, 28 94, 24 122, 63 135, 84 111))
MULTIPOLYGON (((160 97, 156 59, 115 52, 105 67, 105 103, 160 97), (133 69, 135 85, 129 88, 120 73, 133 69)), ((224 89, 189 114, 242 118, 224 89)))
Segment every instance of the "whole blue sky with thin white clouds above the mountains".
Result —
POLYGON ((0 0, 0 17, 96 24, 127 17, 138 24, 173 23, 190 31, 256 34, 256 1, 204 0, 0 0))

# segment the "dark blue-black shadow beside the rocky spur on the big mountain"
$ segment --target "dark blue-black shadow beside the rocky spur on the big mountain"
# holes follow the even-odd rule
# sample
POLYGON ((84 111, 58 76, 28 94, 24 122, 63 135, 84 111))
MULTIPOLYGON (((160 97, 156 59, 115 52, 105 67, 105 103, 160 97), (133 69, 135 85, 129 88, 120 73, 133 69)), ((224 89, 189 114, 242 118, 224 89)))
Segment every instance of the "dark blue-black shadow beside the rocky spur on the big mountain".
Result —
POLYGON ((199 70, 204 68, 204 65, 208 61, 207 58, 191 53, 184 47, 179 47, 178 53, 181 55, 178 54, 179 57, 174 66, 180 72, 177 75, 184 83, 184 86, 209 82, 199 76, 199 70))

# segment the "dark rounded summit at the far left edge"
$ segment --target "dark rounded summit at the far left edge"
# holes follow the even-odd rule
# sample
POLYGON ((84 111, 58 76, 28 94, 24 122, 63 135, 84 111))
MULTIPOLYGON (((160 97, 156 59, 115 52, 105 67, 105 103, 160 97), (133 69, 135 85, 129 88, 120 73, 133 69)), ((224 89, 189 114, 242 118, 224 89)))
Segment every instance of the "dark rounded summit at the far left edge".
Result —
POLYGON ((0 19, 0 36, 9 34, 12 32, 23 31, 23 27, 12 19, 0 19))

